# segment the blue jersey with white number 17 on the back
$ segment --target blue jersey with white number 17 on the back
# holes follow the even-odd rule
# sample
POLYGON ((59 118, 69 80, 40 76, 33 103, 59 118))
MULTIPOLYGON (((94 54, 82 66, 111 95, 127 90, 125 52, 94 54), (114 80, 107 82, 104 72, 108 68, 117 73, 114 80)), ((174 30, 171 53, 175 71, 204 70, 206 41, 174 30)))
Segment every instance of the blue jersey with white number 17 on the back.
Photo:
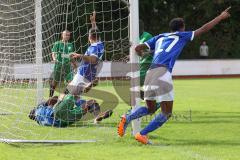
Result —
POLYGON ((153 52, 153 61, 150 68, 166 66, 172 72, 175 61, 187 42, 193 40, 194 32, 164 33, 145 42, 153 52))

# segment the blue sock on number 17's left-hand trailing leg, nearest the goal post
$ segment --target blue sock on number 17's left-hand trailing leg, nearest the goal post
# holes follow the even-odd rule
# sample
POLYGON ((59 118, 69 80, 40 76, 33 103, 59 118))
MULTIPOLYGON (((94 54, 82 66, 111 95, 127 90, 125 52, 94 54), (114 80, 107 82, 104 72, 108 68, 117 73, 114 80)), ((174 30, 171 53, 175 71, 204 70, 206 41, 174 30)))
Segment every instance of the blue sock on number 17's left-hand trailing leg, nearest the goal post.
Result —
POLYGON ((139 107, 134 112, 126 115, 127 123, 130 123, 132 120, 148 115, 148 109, 146 107, 139 107))

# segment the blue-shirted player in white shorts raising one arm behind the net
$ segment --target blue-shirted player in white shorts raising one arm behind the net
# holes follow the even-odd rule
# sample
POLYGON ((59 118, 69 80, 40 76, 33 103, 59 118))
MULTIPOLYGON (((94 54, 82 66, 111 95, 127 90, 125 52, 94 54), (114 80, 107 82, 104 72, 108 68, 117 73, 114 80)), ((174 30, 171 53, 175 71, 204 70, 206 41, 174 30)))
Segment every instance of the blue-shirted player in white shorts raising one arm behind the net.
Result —
POLYGON ((88 40, 90 46, 85 54, 72 54, 72 58, 82 60, 77 74, 69 83, 67 89, 73 95, 80 95, 91 82, 96 81, 97 67, 104 54, 104 44, 100 39, 100 33, 96 26, 96 12, 90 17, 92 28, 89 30, 88 40))

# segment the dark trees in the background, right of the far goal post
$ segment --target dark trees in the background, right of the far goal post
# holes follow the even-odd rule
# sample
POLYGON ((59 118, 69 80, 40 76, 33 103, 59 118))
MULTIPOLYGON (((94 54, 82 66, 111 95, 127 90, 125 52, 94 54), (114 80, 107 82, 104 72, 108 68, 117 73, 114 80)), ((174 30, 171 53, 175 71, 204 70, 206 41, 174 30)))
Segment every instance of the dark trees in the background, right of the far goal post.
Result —
MULTIPOLYGON (((89 16, 97 11, 97 24, 105 42, 104 60, 120 60, 129 54, 128 6, 121 0, 54 0, 57 6, 43 0, 43 53, 50 61, 49 52, 64 29, 72 31, 76 51, 84 53, 88 44, 89 16), (50 36, 51 35, 51 36, 50 36)), ((231 18, 216 26, 209 33, 194 40, 180 55, 180 59, 196 59, 199 47, 206 41, 212 59, 240 58, 240 1, 239 0, 139 0, 140 19, 145 31, 153 35, 169 32, 169 21, 182 17, 186 30, 195 30, 213 19, 228 6, 232 6, 231 18)))

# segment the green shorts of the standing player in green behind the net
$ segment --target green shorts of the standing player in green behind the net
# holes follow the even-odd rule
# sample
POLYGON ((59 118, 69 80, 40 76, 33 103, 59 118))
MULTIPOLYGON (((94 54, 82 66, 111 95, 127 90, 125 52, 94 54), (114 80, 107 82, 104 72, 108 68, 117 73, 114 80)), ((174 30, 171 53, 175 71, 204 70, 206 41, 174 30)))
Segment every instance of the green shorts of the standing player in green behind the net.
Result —
POLYGON ((70 82, 73 79, 73 72, 70 63, 56 63, 53 70, 53 80, 56 82, 70 82))

